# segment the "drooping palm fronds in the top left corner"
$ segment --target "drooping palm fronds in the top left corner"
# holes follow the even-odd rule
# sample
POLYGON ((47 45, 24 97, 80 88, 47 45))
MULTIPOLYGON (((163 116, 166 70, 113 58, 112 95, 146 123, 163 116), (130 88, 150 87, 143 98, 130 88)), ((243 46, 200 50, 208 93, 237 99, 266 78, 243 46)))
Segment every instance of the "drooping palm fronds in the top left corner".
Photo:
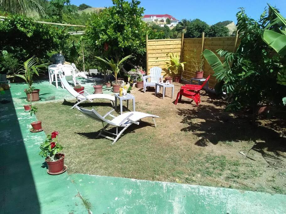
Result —
POLYGON ((10 13, 36 14, 44 13, 42 7, 47 0, 0 0, 0 9, 10 13))

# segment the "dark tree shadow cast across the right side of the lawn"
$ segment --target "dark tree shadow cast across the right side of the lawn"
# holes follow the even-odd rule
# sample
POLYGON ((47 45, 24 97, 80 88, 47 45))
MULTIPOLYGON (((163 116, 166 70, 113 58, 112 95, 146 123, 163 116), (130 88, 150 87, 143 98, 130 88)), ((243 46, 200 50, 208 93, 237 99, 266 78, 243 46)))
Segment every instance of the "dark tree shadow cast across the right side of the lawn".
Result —
POLYGON ((247 117, 237 118, 213 106, 178 109, 178 115, 183 116, 181 123, 187 125, 181 131, 197 135, 198 146, 208 146, 208 142, 216 145, 220 141, 253 141, 251 149, 261 153, 269 165, 274 168, 283 165, 285 156, 282 153, 286 152, 286 138, 271 128, 252 125, 247 117))

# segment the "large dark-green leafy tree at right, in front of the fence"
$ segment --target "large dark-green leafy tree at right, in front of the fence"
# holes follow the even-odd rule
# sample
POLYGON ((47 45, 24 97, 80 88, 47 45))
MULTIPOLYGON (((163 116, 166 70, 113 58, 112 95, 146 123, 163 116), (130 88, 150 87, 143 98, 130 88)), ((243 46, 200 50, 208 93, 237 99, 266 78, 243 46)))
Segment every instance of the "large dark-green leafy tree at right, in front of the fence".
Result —
POLYGON ((276 83, 281 62, 261 38, 263 25, 249 18, 243 8, 236 16, 237 28, 243 32, 236 52, 218 50, 218 55, 225 58, 223 64, 209 50, 204 51, 204 56, 215 71, 214 76, 224 82, 223 89, 230 95, 226 110, 251 107, 255 115, 257 105, 265 101, 281 104, 283 86, 276 83))

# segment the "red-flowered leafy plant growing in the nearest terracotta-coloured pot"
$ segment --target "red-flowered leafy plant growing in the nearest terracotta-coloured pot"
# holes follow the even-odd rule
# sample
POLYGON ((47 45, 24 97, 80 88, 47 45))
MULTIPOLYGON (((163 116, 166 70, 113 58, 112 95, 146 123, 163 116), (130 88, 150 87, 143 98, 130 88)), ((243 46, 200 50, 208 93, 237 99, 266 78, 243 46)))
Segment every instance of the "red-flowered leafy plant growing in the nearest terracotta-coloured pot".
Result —
POLYGON ((51 161, 57 161, 56 154, 62 151, 62 146, 58 143, 58 132, 53 131, 44 143, 40 145, 40 153, 42 157, 49 157, 51 161))

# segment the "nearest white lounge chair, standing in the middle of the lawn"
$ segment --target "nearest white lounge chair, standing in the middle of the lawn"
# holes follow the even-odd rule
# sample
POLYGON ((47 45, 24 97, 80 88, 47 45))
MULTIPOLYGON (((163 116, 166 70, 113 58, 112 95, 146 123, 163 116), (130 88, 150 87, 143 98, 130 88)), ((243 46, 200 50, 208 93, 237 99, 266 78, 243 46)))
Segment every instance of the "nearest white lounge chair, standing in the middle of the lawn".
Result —
POLYGON ((76 108, 82 112, 85 116, 97 120, 99 122, 102 122, 102 126, 103 128, 101 129, 100 133, 96 136, 97 138, 99 136, 105 137, 107 139, 113 140, 112 144, 115 144, 116 141, 118 140, 118 138, 120 137, 120 135, 132 124, 137 124, 139 125, 139 122, 137 122, 138 120, 141 120, 145 117, 152 117, 153 121, 154 121, 154 126, 156 127, 156 122, 155 122, 155 118, 158 118, 159 116, 156 115, 152 115, 152 114, 146 114, 143 112, 126 112, 124 114, 121 114, 117 117, 115 117, 114 115, 111 114, 112 111, 114 111, 114 109, 111 109, 109 112, 107 112, 103 117, 94 109, 92 110, 88 110, 88 109, 84 109, 84 108, 80 108, 78 106, 76 106, 76 108), (111 116, 113 117, 112 120, 107 120, 105 119, 105 117, 107 116, 111 116), (104 125, 104 122, 107 123, 106 125, 104 125), (108 126, 115 126, 116 127, 116 133, 112 133, 109 132, 107 130, 105 130, 108 126), (121 127, 123 128, 119 133, 118 133, 118 128, 121 127), (108 137, 106 135, 104 135, 103 133, 109 133, 112 135, 115 135, 116 138, 111 138, 108 137))

